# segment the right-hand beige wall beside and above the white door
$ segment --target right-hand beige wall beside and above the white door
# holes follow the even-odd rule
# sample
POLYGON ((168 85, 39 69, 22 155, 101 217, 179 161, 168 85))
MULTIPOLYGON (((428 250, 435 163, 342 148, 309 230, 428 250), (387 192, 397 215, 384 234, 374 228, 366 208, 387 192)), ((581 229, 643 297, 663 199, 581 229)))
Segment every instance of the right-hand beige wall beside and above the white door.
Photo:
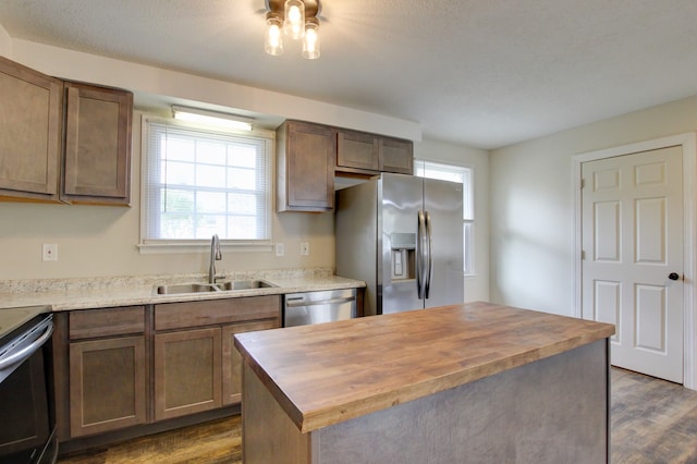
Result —
POLYGON ((695 130, 692 97, 493 150, 491 300, 573 314, 573 155, 695 130))

